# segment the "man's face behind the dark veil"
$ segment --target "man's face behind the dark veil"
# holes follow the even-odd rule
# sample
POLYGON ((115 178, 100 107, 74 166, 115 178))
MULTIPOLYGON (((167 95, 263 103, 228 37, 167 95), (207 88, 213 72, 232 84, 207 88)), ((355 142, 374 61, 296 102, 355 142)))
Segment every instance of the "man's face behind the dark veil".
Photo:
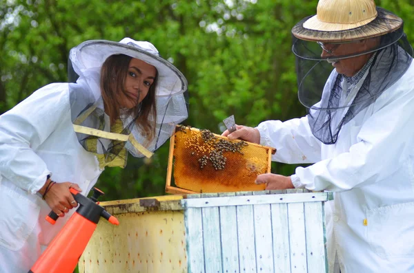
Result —
POLYGON ((371 58, 371 54, 364 54, 361 56, 355 56, 351 58, 344 58, 341 60, 335 60, 335 56, 352 55, 357 52, 364 52, 368 48, 372 48, 371 43, 368 40, 355 41, 352 43, 319 43, 323 46, 322 58, 329 58, 329 63, 335 67, 338 74, 344 74, 345 76, 354 76, 366 62, 371 58))

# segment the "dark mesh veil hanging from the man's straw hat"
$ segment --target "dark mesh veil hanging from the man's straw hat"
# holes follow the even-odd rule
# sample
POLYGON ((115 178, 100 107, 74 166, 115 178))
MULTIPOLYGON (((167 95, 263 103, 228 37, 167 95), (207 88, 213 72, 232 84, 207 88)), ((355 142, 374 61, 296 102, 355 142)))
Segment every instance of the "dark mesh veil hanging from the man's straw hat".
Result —
MULTIPOLYGON (((369 50, 322 57, 322 47, 315 41, 293 38, 296 55, 299 101, 308 109, 313 135, 324 144, 335 144, 344 124, 371 105, 384 90, 391 87, 411 65, 413 49, 403 27, 378 36, 369 50), (338 74, 333 64, 355 56, 369 54, 369 61, 357 72, 357 83, 338 74)), ((355 44, 342 43, 342 47, 355 44)))

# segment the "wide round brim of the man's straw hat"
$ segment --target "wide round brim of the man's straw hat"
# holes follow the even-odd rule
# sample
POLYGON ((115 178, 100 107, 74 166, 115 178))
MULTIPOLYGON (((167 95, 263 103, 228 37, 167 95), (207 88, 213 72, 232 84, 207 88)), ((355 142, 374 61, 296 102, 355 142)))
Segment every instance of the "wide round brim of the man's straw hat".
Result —
POLYGON ((317 16, 306 17, 297 23, 292 34, 297 39, 320 42, 347 42, 382 36, 402 26, 402 19, 395 14, 377 7, 377 17, 355 24, 326 23, 317 16))

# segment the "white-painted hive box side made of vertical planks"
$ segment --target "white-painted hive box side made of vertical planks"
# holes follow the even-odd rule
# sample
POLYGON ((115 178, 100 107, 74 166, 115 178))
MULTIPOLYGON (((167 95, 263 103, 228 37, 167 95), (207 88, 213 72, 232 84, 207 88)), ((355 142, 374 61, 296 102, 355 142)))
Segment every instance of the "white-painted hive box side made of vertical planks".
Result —
POLYGON ((197 241, 187 238, 188 255, 199 257, 190 261, 191 267, 203 273, 327 272, 323 202, 331 195, 283 192, 182 199, 185 214, 197 215, 191 218, 197 221, 186 221, 197 230, 197 241))

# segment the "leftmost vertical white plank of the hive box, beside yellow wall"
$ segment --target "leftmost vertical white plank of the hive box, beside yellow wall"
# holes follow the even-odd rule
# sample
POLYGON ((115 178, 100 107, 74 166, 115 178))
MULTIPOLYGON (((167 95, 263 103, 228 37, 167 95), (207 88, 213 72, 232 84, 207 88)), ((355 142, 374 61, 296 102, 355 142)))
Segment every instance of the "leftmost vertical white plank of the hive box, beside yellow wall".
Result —
POLYGON ((187 234, 188 272, 205 273, 201 208, 188 208, 184 212, 184 222, 187 234))

